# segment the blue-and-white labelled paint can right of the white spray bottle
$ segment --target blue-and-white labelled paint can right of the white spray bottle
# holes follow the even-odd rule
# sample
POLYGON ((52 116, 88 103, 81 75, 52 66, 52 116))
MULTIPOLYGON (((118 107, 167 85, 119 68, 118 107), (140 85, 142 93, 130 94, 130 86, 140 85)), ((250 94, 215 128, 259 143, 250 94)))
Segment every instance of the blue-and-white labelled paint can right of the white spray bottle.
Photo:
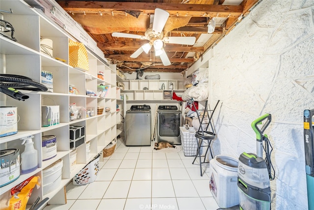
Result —
POLYGON ((43 161, 49 160, 57 155, 57 140, 53 135, 42 136, 43 161))

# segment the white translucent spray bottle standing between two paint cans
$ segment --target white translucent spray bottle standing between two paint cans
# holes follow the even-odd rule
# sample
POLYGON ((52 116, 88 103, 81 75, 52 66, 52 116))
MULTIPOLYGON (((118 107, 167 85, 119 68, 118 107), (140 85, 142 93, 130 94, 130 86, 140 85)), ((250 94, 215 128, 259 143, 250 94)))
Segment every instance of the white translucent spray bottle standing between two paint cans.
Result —
POLYGON ((21 154, 22 174, 30 173, 38 168, 37 150, 34 149, 32 138, 34 138, 34 136, 21 138, 23 140, 22 145, 25 145, 25 150, 21 154))

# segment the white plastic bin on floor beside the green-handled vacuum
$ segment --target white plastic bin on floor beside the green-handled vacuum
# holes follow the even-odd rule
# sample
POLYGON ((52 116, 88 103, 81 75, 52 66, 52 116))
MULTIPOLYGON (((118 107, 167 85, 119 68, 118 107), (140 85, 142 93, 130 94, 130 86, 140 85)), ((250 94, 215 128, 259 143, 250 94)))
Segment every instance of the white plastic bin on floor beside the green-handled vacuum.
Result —
POLYGON ((223 155, 209 161, 209 189, 220 208, 239 204, 237 165, 236 159, 223 155))

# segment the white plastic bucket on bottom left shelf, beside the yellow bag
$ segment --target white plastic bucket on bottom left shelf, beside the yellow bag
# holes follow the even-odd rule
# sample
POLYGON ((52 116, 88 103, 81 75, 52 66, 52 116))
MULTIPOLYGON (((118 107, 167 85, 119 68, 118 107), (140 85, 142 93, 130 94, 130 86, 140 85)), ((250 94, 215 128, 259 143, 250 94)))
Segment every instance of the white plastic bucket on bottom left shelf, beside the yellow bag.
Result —
POLYGON ((44 195, 58 188, 62 179, 63 161, 57 160, 43 170, 43 193, 44 195))

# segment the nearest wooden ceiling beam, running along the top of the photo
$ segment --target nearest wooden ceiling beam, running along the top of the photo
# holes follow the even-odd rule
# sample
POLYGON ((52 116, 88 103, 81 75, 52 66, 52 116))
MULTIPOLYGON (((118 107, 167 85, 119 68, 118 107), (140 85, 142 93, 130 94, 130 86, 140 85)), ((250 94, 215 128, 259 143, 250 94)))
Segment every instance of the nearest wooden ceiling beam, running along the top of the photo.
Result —
MULTIPOLYGON (((250 0, 248 0, 250 1, 250 0)), ((178 3, 152 3, 152 2, 115 2, 115 1, 83 1, 83 0, 57 0, 58 4, 67 12, 93 12, 111 13, 112 11, 141 11, 145 14, 155 13, 161 8, 176 16, 190 17, 238 17, 243 12, 240 5, 218 4, 178 4, 178 3)))

